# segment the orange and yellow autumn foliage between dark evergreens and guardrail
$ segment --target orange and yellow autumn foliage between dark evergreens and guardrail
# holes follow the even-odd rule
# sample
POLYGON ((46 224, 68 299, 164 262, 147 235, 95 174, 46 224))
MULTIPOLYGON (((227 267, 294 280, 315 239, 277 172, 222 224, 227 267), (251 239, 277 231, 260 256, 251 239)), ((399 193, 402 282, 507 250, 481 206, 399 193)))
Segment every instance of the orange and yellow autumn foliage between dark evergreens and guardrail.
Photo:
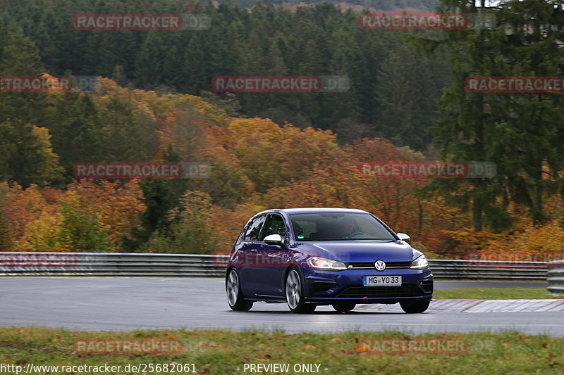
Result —
MULTIPOLYGON (((142 119, 139 126, 151 130, 147 134, 153 143, 147 158, 164 160, 170 146, 181 161, 202 161, 212 166, 207 179, 173 183, 178 188, 177 198, 182 189, 209 196, 209 212, 202 214, 202 222, 209 227, 206 229, 210 229, 213 240, 221 243, 221 253, 230 250, 240 229, 256 212, 312 206, 373 212, 395 231, 410 234, 413 246, 431 252, 431 257, 465 258, 472 251, 563 251, 561 196, 544 197, 548 220, 541 226, 532 224, 524 208, 511 207, 516 220, 510 229, 501 234, 487 229, 476 233, 468 229, 470 212, 449 207, 438 193, 422 193, 429 179, 378 179, 364 177, 358 170, 360 162, 424 160, 424 155, 409 148, 398 148, 382 138, 338 146, 336 135, 329 131, 281 126, 262 118, 229 117, 197 96, 130 90, 108 79, 100 83, 101 89, 92 94, 95 103, 105 106, 118 97, 142 119)), ((66 191, 33 185, 22 189, 3 183, 0 208, 10 223, 14 248, 48 250, 62 246, 61 250, 68 250, 49 233, 57 233, 61 227, 61 205, 70 198, 78 201, 80 215, 99 220, 107 229, 115 249, 120 247, 123 234, 139 227, 139 214, 146 209, 134 181, 75 181, 66 191)), ((159 248, 152 250, 158 252, 159 248)))

